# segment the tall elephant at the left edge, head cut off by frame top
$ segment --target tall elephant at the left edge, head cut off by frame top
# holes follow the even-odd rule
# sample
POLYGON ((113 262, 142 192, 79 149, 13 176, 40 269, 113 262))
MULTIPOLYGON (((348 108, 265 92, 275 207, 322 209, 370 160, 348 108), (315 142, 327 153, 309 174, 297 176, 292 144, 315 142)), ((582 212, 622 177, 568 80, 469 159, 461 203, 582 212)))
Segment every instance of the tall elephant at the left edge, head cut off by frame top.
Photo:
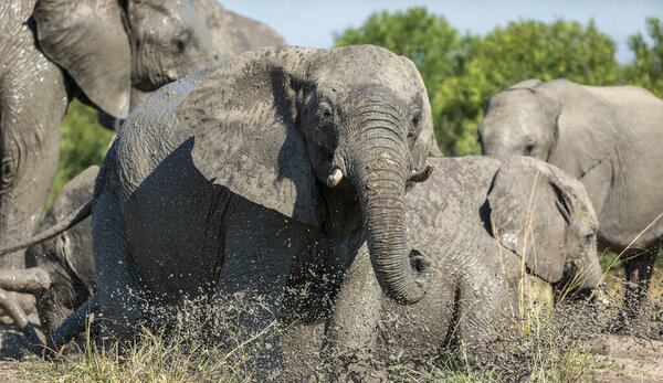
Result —
MULTIPOLYGON (((0 244, 8 244, 42 217, 71 98, 124 118, 131 86, 154 91, 214 63, 218 52, 187 1, 3 1, 0 22, 0 244)), ((24 267, 23 253, 0 266, 24 267)))

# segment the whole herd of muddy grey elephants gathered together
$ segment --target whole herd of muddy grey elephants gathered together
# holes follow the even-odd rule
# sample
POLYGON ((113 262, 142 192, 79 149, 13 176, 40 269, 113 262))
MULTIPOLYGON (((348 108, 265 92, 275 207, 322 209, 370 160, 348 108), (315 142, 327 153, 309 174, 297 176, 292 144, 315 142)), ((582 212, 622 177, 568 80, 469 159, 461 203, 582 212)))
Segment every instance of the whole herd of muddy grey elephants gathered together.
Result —
POLYGON ((246 339, 283 327, 265 377, 454 342, 478 361, 524 273, 591 295, 610 248, 628 315, 649 287, 663 102, 644 89, 518 83, 487 105, 486 157, 441 158, 415 65, 382 47, 287 46, 213 0, 21 0, 0 21, 0 308, 32 343, 34 306, 49 350, 90 315, 122 348, 202 299, 251 308, 246 339), (41 221, 73 97, 124 123, 41 221))

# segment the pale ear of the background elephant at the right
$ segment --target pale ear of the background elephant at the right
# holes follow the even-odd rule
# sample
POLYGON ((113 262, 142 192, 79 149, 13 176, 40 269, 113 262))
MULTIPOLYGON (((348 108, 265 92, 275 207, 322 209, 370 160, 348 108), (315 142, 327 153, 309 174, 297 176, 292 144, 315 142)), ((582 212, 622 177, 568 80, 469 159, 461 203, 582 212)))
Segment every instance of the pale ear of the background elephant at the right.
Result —
POLYGON ((557 139, 547 161, 575 178, 582 178, 614 151, 617 117, 597 96, 569 81, 552 81, 539 89, 552 93, 561 102, 557 139))

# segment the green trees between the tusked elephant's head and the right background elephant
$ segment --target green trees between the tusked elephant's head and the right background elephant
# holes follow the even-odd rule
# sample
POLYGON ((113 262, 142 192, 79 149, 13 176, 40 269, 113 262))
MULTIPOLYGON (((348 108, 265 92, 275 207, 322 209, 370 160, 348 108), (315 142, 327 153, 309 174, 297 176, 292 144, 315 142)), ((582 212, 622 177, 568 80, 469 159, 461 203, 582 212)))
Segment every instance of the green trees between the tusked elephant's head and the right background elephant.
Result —
POLYGON ((589 22, 519 20, 485 38, 459 33, 443 17, 413 8, 373 13, 336 45, 376 44, 412 58, 427 84, 435 136, 448 155, 477 153, 476 128, 488 98, 523 79, 566 77, 613 84, 614 42, 589 22))

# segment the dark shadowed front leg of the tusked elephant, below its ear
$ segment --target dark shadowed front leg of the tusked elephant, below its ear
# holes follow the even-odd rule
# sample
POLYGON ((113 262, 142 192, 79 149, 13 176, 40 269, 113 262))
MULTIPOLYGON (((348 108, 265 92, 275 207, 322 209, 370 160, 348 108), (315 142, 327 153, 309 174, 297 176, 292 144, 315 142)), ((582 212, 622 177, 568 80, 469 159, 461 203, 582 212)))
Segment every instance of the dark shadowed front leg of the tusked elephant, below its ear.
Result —
POLYGON ((239 316, 239 328, 229 329, 235 347, 257 345, 257 373, 274 379, 282 373, 280 336, 275 330, 285 284, 307 231, 262 208, 231 216, 228 222, 225 258, 217 285, 220 315, 239 316))

